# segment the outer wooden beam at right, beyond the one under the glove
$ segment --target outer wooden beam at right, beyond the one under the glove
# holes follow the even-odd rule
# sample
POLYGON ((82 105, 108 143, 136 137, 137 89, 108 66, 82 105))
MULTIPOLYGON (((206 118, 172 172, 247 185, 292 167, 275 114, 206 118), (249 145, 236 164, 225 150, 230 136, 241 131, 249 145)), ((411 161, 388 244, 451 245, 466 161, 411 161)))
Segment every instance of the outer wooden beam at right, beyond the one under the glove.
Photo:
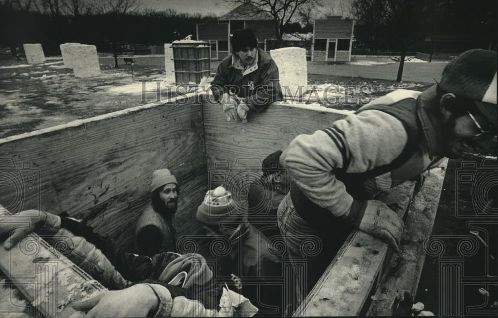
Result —
POLYGON ((425 261, 424 242, 432 232, 446 172, 446 159, 432 169, 408 211, 400 253, 393 255, 375 293, 368 316, 395 315, 395 307, 405 293, 413 296, 418 288, 425 261))

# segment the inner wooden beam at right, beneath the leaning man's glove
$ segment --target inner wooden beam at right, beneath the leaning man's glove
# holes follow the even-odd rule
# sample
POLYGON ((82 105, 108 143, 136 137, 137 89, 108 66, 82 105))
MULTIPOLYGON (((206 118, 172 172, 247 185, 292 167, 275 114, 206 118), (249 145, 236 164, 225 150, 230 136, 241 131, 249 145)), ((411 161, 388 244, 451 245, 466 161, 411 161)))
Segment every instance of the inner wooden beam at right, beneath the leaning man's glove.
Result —
MULTIPOLYGON (((377 199, 403 217, 413 190, 414 182, 408 181, 377 199)), ((360 315, 387 258, 387 244, 353 231, 294 316, 360 315)))

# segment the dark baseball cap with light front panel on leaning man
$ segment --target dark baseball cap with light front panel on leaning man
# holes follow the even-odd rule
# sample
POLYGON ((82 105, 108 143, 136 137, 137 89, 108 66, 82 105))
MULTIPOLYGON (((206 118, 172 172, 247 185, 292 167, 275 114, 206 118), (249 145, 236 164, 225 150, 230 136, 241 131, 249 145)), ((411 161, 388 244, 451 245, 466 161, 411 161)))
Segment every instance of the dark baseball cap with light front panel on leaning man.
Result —
POLYGON ((452 59, 439 87, 474 101, 479 111, 497 125, 497 52, 473 49, 452 59))

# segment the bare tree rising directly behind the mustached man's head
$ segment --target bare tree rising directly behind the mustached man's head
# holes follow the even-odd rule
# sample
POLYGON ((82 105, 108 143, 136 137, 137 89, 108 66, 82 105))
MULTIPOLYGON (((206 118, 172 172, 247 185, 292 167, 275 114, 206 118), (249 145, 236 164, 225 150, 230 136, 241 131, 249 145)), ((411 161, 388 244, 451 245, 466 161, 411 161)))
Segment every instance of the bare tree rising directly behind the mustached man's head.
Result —
POLYGON ((290 24, 300 18, 299 8, 308 5, 315 8, 322 4, 321 0, 233 0, 230 2, 252 4, 244 14, 259 16, 269 14, 273 18, 275 36, 282 40, 284 25, 290 24))

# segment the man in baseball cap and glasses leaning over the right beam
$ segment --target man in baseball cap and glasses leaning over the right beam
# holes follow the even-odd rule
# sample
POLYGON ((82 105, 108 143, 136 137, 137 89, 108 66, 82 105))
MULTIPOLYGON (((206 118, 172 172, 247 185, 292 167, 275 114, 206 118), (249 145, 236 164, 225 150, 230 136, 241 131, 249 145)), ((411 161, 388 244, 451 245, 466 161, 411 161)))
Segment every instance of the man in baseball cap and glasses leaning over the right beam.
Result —
POLYGON ((497 55, 474 49, 453 59, 424 92, 399 89, 311 135, 299 135, 280 163, 294 181, 278 208, 291 257, 307 263, 304 297, 352 229, 399 248, 402 220, 375 200, 448 158, 490 149, 497 135, 497 55), (303 236, 316 235, 318 255, 303 255, 303 236))

